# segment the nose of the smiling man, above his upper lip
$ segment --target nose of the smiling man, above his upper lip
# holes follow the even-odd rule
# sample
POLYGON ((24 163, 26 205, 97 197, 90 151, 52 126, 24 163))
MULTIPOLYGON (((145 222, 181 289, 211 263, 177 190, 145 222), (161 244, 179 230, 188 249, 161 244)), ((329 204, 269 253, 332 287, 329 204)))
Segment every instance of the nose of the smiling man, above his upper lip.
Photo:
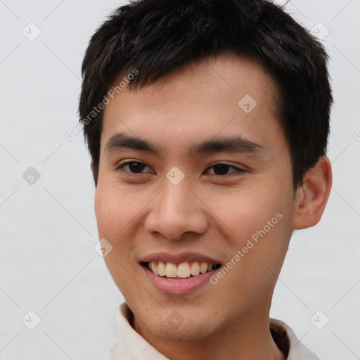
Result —
POLYGON ((162 191, 150 203, 145 229, 152 235, 181 240, 185 233, 202 234, 208 227, 206 206, 186 181, 174 185, 165 180, 162 191))

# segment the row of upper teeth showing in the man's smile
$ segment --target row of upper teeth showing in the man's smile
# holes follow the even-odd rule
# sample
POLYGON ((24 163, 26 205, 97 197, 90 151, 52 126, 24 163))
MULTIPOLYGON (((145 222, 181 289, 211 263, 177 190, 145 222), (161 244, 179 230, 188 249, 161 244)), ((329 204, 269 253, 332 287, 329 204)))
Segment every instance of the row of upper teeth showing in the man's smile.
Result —
POLYGON ((212 271, 212 264, 207 262, 181 262, 177 267, 172 262, 149 262, 150 270, 159 276, 168 278, 188 278, 191 275, 205 274, 212 271))

